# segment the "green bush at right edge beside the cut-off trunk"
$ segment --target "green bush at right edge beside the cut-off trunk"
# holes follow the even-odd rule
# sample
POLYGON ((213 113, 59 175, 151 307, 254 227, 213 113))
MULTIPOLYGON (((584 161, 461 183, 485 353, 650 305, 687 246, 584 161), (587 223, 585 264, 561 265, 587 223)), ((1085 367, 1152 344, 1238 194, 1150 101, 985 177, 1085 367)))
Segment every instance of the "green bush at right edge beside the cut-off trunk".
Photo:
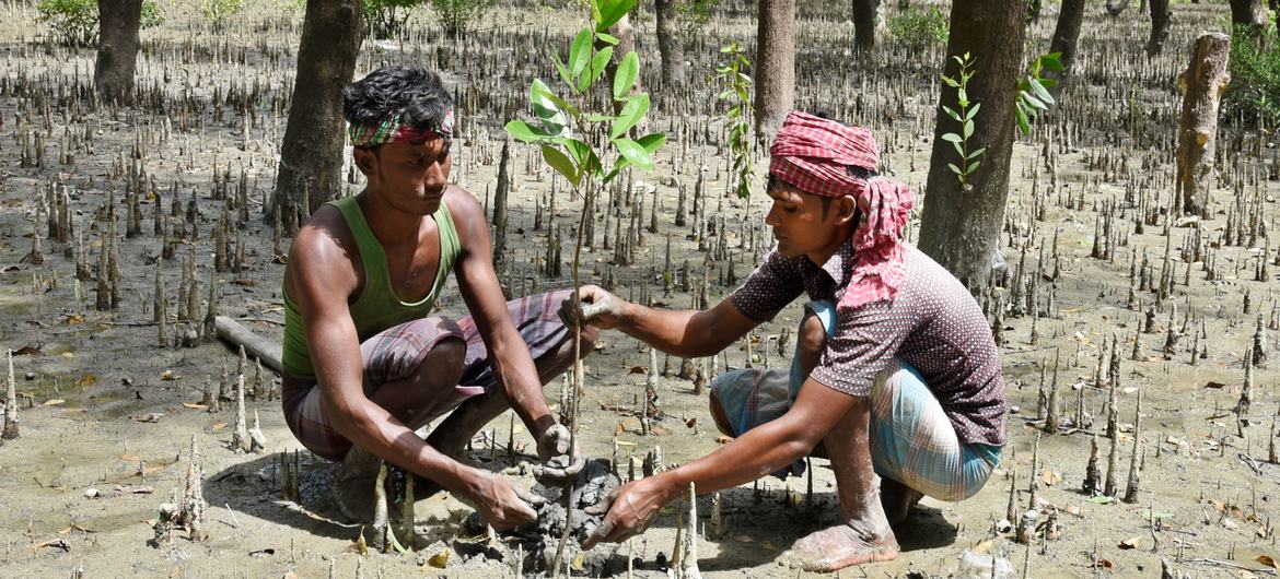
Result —
POLYGON ((1280 124, 1280 37, 1275 28, 1236 27, 1229 72, 1222 112, 1247 123, 1280 124))

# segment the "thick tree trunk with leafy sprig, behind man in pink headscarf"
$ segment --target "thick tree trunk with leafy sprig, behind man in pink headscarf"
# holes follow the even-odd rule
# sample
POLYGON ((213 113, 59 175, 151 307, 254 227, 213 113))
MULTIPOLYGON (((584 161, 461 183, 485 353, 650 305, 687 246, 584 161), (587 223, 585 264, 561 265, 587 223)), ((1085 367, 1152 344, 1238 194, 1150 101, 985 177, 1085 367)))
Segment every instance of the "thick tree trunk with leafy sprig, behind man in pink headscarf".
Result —
POLYGON ((961 133, 942 106, 959 110, 956 91, 943 88, 933 129, 933 152, 925 185, 919 248, 969 288, 991 272, 992 254, 1005 221, 1009 197, 1009 160, 1014 151, 1015 95, 1023 72, 1027 3, 1024 0, 970 0, 951 8, 946 74, 959 77, 954 55, 969 52, 975 74, 969 81, 970 101, 980 102, 969 148, 986 147, 977 171, 961 188, 947 164, 959 155, 945 133, 961 133))

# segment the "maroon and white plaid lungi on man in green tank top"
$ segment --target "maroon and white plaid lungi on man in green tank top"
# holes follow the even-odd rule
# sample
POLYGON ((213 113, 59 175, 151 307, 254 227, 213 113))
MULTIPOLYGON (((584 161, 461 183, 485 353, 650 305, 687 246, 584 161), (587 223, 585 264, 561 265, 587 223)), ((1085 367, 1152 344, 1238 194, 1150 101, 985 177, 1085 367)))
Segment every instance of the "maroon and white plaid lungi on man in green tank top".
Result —
MULTIPOLYGON (((507 302, 507 311, 534 360, 554 353, 573 339, 573 334, 557 314, 561 302, 570 294, 571 290, 561 290, 507 302)), ((489 350, 471 316, 457 322, 431 316, 389 327, 360 345, 365 364, 365 395, 372 396, 384 383, 412 376, 426 354, 447 337, 466 343, 465 368, 458 385, 439 392, 433 399, 435 404, 425 409, 429 419, 452 412, 471 396, 497 391, 498 382, 489 363, 489 350)), ((314 380, 285 381, 284 422, 307 450, 330 460, 342 460, 351 449, 351 441, 333 428, 333 417, 324 410, 321 389, 317 386, 314 380)))

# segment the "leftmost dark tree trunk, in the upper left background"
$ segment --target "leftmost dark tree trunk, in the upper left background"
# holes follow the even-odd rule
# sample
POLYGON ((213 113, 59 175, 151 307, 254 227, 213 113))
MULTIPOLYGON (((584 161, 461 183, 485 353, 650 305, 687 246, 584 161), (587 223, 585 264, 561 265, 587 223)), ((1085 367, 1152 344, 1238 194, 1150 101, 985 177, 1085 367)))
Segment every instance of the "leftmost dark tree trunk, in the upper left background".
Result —
POLYGON ((99 0, 97 14, 97 61, 93 64, 97 97, 104 102, 129 102, 142 46, 138 38, 142 0, 99 0))

